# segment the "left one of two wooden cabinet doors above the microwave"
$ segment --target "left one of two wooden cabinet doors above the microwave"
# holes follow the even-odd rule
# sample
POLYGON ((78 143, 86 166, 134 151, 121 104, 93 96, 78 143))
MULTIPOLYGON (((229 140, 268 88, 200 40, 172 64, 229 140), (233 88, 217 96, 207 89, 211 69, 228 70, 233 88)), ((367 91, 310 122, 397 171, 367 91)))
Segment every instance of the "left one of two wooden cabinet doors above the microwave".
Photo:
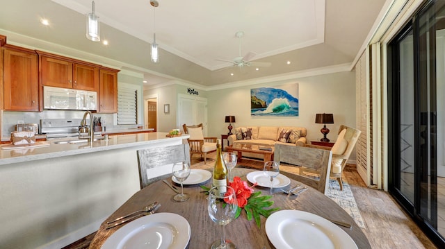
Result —
POLYGON ((72 62, 41 56, 42 85, 72 88, 72 62))

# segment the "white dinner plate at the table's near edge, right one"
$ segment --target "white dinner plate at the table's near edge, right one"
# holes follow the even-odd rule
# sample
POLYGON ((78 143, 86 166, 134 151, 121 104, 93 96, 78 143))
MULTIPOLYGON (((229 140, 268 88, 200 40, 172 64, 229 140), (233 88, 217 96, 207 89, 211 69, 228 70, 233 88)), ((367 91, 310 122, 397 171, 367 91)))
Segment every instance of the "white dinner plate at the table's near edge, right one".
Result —
POLYGON ((357 249, 353 239, 325 218, 298 210, 282 210, 266 220, 266 234, 275 248, 357 249))

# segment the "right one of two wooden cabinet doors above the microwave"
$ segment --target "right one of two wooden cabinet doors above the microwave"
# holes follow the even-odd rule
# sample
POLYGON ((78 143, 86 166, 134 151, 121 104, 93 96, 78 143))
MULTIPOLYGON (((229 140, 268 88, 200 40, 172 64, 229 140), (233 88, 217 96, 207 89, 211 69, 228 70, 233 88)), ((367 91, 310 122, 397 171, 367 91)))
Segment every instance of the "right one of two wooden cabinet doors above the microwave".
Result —
POLYGON ((74 64, 72 88, 97 92, 99 90, 99 67, 74 64))

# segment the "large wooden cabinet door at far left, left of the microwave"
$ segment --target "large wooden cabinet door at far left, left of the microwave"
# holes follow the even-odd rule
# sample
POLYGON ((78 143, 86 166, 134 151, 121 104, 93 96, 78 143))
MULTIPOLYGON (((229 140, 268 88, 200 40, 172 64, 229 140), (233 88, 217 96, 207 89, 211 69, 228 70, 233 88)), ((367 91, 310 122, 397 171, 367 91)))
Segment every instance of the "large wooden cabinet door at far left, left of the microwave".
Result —
POLYGON ((38 111, 38 56, 4 49, 3 90, 5 110, 38 111))

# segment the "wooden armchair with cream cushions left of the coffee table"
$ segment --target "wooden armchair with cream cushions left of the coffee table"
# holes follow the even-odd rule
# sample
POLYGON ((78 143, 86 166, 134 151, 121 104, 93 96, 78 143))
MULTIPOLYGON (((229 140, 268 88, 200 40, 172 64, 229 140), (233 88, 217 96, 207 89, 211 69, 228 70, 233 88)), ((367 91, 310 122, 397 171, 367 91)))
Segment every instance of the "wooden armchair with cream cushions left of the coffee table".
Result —
POLYGON ((216 137, 204 137, 202 134, 202 123, 196 126, 187 126, 185 123, 182 126, 184 132, 190 135, 187 139, 190 146, 190 157, 193 154, 200 154, 204 157, 204 164, 207 164, 207 153, 216 151, 216 137))

